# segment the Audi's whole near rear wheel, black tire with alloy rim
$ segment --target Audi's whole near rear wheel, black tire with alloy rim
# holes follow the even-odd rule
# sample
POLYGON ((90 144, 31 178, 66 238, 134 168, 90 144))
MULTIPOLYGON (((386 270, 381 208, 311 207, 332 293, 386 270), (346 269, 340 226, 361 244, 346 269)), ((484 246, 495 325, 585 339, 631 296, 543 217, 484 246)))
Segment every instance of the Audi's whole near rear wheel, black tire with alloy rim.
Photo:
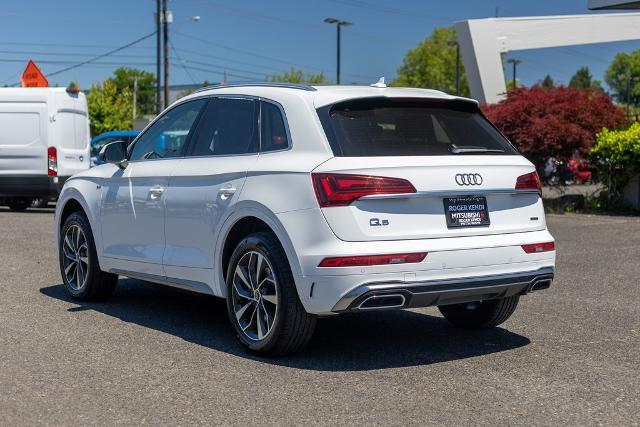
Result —
POLYGON ((302 306, 274 234, 245 237, 231 255, 226 282, 229 320, 243 346, 262 355, 283 356, 309 342, 317 319, 302 306))

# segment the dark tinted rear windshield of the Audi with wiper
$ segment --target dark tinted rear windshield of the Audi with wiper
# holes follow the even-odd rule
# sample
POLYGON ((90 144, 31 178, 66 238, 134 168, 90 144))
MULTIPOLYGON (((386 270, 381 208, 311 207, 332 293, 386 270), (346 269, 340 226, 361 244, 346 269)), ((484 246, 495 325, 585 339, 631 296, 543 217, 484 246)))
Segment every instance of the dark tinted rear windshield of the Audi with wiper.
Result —
POLYGON ((518 154, 471 102, 367 98, 318 115, 338 157, 518 154))

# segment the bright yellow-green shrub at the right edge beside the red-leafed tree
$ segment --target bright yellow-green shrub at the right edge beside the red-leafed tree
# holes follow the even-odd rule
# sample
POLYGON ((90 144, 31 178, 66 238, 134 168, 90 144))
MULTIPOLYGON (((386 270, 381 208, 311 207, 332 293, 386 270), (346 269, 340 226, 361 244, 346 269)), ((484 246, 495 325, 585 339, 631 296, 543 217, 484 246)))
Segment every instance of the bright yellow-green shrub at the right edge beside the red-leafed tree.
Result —
POLYGON ((591 155, 597 159, 609 199, 619 202, 629 180, 640 173, 640 123, 629 129, 603 129, 591 155))

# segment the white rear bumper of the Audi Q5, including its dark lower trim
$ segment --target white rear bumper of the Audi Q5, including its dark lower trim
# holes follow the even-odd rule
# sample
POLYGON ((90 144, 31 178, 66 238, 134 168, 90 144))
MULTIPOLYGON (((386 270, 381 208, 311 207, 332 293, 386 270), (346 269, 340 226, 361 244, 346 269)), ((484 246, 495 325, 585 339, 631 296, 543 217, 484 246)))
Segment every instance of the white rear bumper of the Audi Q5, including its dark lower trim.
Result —
POLYGON ((350 311, 353 299, 345 300, 347 304, 343 299, 352 298, 354 294, 358 297, 374 285, 391 285, 402 291, 404 301, 398 303, 401 302, 399 305, 403 308, 522 294, 529 291, 527 284, 535 280, 527 279, 528 276, 549 274, 555 267, 555 251, 529 254, 522 249, 524 244, 553 241, 546 229, 484 236, 347 242, 335 237, 321 215, 319 209, 278 215, 293 244, 292 264, 297 264, 293 270, 298 295, 309 313, 330 315, 350 311), (418 263, 319 267, 326 257, 418 252, 428 253, 418 263), (543 273, 537 273, 541 269, 545 269, 543 273), (490 282, 495 278, 504 280, 490 282), (437 293, 426 292, 432 286, 437 293), (487 292, 480 289, 491 286, 494 288, 487 292))

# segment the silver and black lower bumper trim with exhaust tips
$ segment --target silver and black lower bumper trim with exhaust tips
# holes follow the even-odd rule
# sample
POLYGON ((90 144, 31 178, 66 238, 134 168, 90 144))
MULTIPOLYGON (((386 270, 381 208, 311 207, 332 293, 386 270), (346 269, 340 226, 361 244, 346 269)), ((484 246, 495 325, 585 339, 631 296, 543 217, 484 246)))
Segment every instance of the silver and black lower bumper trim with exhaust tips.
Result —
POLYGON ((348 292, 331 311, 429 307, 524 295, 551 286, 553 275, 552 267, 544 267, 464 279, 371 282, 348 292))

